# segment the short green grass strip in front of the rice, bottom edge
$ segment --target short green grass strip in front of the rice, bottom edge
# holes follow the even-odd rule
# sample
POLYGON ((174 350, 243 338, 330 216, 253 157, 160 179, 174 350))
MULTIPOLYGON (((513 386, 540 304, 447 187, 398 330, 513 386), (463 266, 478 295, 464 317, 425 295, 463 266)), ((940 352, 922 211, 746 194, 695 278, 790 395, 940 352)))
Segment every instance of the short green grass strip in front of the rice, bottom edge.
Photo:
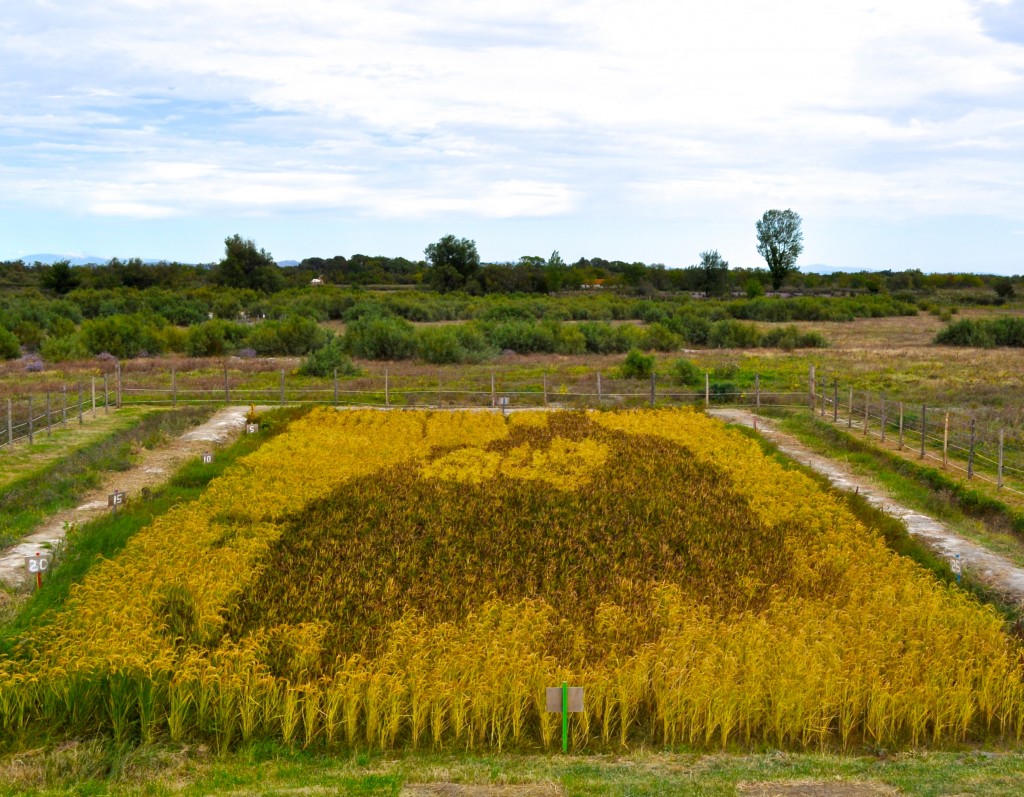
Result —
MULTIPOLYGON (((44 795, 388 795, 412 784, 546 784, 567 797, 735 795, 742 784, 886 785, 906 795, 1019 795, 1020 752, 838 756, 768 752, 696 755, 486 756, 411 753, 331 757, 259 746, 227 757, 203 749, 117 749, 101 742, 0 758, 0 797, 44 795)), ((771 793, 771 792, 768 792, 771 793)), ((469 795, 472 792, 459 792, 469 795)), ((810 794, 805 792, 804 794, 810 794)), ((827 791, 818 792, 827 795, 827 791)))

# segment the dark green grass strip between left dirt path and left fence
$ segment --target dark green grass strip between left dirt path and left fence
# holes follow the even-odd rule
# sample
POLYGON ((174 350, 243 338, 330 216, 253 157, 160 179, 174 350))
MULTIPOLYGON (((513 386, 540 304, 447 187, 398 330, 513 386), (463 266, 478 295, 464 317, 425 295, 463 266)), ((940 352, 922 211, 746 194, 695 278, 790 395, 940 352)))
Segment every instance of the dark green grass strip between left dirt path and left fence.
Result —
POLYGON ((129 428, 13 481, 0 492, 0 548, 13 544, 54 512, 74 506, 86 492, 102 484, 104 473, 130 468, 137 448, 152 449, 210 415, 209 408, 148 413, 129 428))

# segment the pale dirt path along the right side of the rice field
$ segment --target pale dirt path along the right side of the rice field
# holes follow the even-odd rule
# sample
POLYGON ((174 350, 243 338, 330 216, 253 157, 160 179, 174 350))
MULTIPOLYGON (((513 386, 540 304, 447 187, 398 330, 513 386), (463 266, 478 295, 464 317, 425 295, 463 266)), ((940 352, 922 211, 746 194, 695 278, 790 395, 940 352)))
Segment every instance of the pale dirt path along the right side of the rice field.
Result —
MULTIPOLYGON (((754 414, 746 410, 723 408, 711 410, 709 414, 728 423, 755 425, 754 414)), ((796 437, 776 429, 765 418, 757 418, 757 430, 783 454, 826 476, 840 490, 858 492, 872 506, 899 517, 910 534, 921 538, 940 556, 952 562, 959 554, 965 572, 970 572, 978 581, 1018 605, 1024 605, 1024 569, 978 543, 964 539, 945 523, 894 501, 874 483, 851 473, 849 468, 836 460, 815 454, 796 437)))

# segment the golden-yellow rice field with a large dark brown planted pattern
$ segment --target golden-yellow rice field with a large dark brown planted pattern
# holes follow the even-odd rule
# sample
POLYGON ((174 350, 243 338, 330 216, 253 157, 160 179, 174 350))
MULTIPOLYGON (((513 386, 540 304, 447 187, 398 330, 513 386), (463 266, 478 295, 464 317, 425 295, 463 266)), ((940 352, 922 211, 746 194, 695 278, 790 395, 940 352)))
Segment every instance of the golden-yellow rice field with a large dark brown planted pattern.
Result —
POLYGON ((1002 619, 688 409, 314 410, 0 659, 0 735, 544 751, 1014 743, 1002 619))

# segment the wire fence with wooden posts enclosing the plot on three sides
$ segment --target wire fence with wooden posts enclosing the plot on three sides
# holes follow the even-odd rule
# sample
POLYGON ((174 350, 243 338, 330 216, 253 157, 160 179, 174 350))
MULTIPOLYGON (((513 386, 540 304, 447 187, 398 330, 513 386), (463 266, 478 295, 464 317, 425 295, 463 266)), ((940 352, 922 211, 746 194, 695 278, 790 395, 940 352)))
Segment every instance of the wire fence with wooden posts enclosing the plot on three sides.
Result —
POLYGON ((70 424, 125 406, 186 404, 285 406, 321 404, 381 408, 523 409, 640 406, 744 407, 754 412, 805 409, 847 430, 878 438, 919 459, 998 489, 1024 495, 1024 442, 1020 428, 991 413, 929 407, 893 394, 858 388, 838 377, 815 374, 805 385, 763 389, 761 377, 737 388, 703 375, 703 384, 679 385, 671 377, 622 378, 601 370, 523 375, 439 371, 436 377, 380 373, 355 377, 335 373, 314 378, 276 371, 184 371, 123 373, 120 366, 88 381, 51 385, 32 394, 9 395, 0 408, 0 450, 33 443, 70 424), (4 406, 5 405, 5 406, 4 406), (5 422, 4 422, 5 421, 5 422))

